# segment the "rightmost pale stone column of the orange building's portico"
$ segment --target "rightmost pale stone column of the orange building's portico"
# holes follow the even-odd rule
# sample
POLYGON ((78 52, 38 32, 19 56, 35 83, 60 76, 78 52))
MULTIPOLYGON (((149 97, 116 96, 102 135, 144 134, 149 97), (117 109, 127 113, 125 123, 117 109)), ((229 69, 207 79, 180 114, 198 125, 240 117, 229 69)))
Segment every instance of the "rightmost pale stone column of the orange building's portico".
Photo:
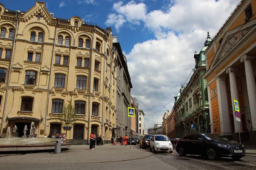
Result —
POLYGON ((241 58, 241 62, 244 62, 245 66, 246 84, 251 115, 251 126, 253 127, 253 131, 256 131, 256 82, 253 74, 253 65, 251 62, 252 59, 255 59, 255 57, 244 55, 241 58))

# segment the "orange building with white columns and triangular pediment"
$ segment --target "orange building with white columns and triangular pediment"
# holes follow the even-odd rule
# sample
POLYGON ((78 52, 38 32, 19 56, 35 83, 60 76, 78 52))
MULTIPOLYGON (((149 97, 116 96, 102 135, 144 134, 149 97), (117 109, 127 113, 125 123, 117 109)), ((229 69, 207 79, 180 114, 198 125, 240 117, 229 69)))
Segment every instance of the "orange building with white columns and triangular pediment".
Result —
POLYGON ((204 53, 211 132, 239 141, 240 131, 241 141, 251 143, 256 142, 255 14, 256 0, 241 0, 204 53))

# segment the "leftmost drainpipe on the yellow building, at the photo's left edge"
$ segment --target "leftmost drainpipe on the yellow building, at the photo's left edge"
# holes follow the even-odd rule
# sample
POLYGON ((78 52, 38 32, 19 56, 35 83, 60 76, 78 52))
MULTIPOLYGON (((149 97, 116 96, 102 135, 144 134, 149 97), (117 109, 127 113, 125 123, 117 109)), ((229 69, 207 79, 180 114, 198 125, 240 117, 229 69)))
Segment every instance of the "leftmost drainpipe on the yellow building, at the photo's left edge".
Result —
POLYGON ((9 91, 10 79, 11 79, 11 70, 12 70, 12 62, 13 62, 14 51, 15 51, 16 36, 17 36, 17 32, 18 32, 19 20, 17 18, 17 13, 15 14, 15 18, 17 20, 17 23, 16 23, 16 28, 15 28, 15 36, 14 36, 13 43, 12 43, 13 44, 12 45, 12 57, 10 59, 11 61, 10 61, 9 70, 8 70, 7 89, 6 89, 6 96, 5 96, 4 105, 3 105, 3 117, 2 117, 2 125, 1 125, 1 130, 0 130, 0 137, 2 136, 2 133, 3 133, 3 122, 4 122, 4 116, 5 116, 5 111, 6 111, 6 103, 7 103, 7 96, 8 96, 8 91, 9 91))

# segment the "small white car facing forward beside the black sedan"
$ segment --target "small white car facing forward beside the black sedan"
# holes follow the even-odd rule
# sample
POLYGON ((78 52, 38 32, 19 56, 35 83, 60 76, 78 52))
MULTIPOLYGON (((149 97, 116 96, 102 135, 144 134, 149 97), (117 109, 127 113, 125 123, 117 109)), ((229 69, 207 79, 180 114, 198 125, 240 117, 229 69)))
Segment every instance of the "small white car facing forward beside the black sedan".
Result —
POLYGON ((154 135, 150 140, 150 151, 160 152, 160 151, 169 151, 172 153, 172 142, 165 135, 154 135))

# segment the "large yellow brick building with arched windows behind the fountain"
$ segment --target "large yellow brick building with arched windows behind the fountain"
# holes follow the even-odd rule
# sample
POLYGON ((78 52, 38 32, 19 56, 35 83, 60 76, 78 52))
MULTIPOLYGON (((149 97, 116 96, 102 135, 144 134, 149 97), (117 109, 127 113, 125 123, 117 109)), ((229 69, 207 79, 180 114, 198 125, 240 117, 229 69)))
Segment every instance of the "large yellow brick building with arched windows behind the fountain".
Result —
POLYGON ((68 142, 87 144, 91 131, 110 141, 117 64, 111 28, 88 25, 77 16, 54 17, 45 5, 37 1, 22 12, 0 3, 1 137, 15 125, 22 136, 32 121, 38 137, 65 133, 58 115, 71 99, 79 119, 67 132, 73 139, 68 142))

